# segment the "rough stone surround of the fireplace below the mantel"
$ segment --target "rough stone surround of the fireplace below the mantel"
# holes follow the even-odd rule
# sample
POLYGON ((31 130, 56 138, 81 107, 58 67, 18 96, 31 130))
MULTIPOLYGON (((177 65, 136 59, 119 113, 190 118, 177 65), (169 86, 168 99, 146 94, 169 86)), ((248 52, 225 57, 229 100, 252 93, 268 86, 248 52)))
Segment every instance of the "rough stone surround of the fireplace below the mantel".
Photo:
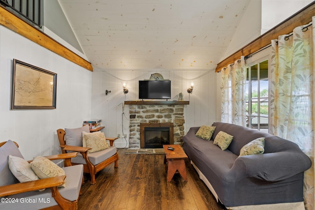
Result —
POLYGON ((140 148, 140 123, 173 122, 174 144, 183 141, 184 105, 129 105, 129 114, 129 148, 140 148))

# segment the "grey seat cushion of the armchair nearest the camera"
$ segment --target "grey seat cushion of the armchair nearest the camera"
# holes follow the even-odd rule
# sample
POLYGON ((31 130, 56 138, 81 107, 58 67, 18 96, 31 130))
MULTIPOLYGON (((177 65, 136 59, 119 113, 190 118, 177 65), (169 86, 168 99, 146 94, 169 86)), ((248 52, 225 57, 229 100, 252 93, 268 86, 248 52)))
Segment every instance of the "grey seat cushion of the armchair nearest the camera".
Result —
MULTIPOLYGON (((63 198, 68 199, 69 201, 75 201, 79 197, 80 193, 83 178, 83 165, 64 167, 63 170, 66 175, 66 187, 59 188, 59 192, 63 198)), ((14 198, 18 202, 10 204, 0 202, 0 209, 43 209, 58 205, 55 199, 52 197, 51 190, 49 188, 42 192, 30 191, 7 196, 6 198, 14 198)))

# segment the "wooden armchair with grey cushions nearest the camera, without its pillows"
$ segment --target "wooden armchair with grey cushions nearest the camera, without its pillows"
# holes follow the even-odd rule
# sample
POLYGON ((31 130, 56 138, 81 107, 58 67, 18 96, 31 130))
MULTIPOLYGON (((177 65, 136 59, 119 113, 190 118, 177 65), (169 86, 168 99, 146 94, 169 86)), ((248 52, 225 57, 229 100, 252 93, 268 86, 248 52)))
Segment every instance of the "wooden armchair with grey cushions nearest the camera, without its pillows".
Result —
MULTIPOLYGON (((78 197, 83 181, 83 166, 71 166, 70 163, 70 159, 75 157, 77 152, 46 156, 46 158, 50 160, 64 159, 65 168, 63 170, 65 171, 65 176, 15 183, 15 181, 13 181, 15 177, 8 167, 8 156, 9 154, 21 158, 23 158, 23 156, 18 149, 18 144, 15 142, 14 144, 12 141, 0 143, 0 184, 2 185, 0 186, 0 197, 5 196, 2 198, 4 200, 0 202, 0 209, 77 210, 78 197), (76 176, 65 179, 68 175, 76 176), (58 187, 64 183, 64 188, 58 187), (51 192, 49 193, 49 191, 51 192), (69 194, 71 195, 69 196, 69 194), (75 199, 69 200, 66 198, 67 196, 75 197, 75 199), (25 202, 26 200, 32 202, 25 202)), ((32 160, 29 162, 32 162, 32 160)))

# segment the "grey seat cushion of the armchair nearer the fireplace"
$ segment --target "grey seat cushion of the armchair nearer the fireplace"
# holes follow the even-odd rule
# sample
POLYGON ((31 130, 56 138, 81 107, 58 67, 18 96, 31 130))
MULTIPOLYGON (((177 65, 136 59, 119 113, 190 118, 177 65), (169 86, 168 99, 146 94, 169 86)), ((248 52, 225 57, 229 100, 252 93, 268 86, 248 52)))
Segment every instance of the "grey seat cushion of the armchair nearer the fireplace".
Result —
MULTIPOLYGON (((89 160, 93 165, 97 165, 104 160, 108 159, 109 157, 116 154, 117 148, 116 147, 110 147, 106 150, 96 151, 93 153, 89 153, 89 160)), ((78 164, 86 164, 85 159, 83 158, 82 154, 78 153, 76 157, 71 158, 72 163, 78 163, 78 164)))

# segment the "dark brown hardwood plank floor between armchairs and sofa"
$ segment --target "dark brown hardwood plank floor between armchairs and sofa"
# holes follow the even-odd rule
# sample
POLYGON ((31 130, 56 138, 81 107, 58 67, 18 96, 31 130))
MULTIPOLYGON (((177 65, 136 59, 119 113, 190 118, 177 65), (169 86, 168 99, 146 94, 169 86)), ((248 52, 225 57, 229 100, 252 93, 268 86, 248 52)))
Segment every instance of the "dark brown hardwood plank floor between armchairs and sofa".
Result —
POLYGON ((90 184, 85 174, 79 210, 224 210, 187 160, 188 181, 179 174, 166 181, 164 154, 125 154, 118 150, 114 164, 96 175, 90 184))

